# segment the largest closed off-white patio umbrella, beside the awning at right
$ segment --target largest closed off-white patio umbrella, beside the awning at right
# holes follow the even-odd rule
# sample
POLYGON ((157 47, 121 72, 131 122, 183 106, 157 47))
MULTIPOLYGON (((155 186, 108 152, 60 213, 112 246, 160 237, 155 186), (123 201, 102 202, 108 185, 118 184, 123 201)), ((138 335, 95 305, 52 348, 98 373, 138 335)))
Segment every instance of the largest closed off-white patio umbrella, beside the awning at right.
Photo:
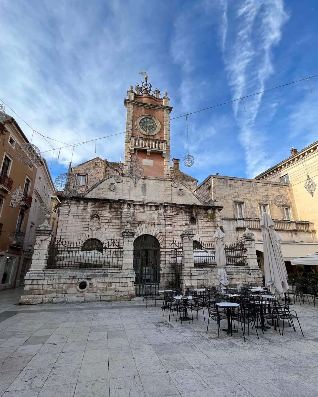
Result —
POLYGON ((286 266, 283 254, 279 250, 280 237, 275 232, 274 225, 268 213, 264 212, 260 226, 264 243, 265 285, 270 289, 272 295, 288 291, 286 266))

